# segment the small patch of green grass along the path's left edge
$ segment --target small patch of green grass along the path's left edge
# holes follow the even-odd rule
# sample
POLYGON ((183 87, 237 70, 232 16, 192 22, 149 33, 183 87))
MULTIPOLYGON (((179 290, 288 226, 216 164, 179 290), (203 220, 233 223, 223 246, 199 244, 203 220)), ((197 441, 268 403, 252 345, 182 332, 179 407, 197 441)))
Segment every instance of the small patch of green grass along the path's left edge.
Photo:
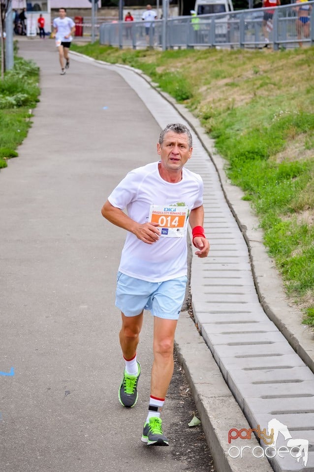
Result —
POLYGON ((0 80, 0 169, 16 157, 17 147, 31 126, 31 108, 38 101, 39 69, 35 64, 14 58, 14 68, 0 80))

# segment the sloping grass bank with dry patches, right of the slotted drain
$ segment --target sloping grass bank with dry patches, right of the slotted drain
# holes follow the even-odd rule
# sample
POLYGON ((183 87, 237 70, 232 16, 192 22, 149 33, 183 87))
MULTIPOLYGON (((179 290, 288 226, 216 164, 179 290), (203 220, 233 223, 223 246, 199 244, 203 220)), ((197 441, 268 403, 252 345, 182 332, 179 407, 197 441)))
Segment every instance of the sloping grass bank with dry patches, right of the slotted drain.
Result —
POLYGON ((287 294, 314 325, 314 48, 73 49, 141 69, 200 119, 258 215, 287 294))

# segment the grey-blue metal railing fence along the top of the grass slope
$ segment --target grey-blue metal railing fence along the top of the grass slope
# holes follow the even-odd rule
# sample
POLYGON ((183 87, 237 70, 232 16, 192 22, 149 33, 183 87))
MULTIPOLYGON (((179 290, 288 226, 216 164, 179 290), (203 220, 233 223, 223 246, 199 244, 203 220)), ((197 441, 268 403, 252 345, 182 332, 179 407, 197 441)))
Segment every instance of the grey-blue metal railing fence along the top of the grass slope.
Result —
POLYGON ((269 43, 275 50, 314 43, 314 1, 273 9, 202 15, 197 19, 193 23, 190 16, 156 20, 149 28, 143 21, 101 24, 99 42, 133 49, 164 45, 166 49, 199 46, 261 48, 269 43))

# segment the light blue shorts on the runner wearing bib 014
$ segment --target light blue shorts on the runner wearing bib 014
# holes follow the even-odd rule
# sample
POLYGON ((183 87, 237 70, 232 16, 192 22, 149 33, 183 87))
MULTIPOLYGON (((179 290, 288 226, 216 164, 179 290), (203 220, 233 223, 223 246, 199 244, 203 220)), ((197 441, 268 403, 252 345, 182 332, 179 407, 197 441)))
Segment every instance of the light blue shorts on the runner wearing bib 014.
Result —
POLYGON ((186 293, 186 276, 164 282, 146 282, 117 275, 116 307, 126 316, 137 316, 143 309, 167 320, 178 320, 186 293))

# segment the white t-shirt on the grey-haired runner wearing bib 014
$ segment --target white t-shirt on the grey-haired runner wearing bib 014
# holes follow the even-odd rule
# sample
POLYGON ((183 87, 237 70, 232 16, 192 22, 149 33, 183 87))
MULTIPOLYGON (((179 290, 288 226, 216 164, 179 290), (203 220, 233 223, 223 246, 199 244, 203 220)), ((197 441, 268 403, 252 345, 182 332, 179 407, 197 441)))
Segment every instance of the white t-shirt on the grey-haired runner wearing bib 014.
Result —
MULTIPOLYGON (((170 183, 160 177, 158 162, 129 172, 108 197, 138 223, 149 221, 151 205, 187 206, 189 211, 203 204, 203 181, 186 168, 182 180, 170 183)), ((186 221, 186 226, 188 220, 186 221)), ((183 237, 162 237, 147 244, 127 232, 119 270, 148 282, 163 282, 187 275, 187 232, 183 237)))

